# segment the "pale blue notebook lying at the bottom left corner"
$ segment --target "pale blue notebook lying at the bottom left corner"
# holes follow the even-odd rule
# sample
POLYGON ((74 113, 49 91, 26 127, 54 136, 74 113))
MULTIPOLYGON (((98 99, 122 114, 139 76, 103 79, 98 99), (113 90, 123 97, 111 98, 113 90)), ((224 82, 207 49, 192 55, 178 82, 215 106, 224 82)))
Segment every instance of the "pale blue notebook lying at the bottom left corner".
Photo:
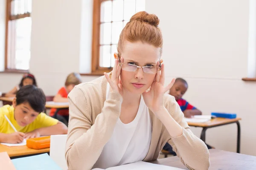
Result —
POLYGON ((62 170, 47 153, 12 159, 17 170, 62 170))

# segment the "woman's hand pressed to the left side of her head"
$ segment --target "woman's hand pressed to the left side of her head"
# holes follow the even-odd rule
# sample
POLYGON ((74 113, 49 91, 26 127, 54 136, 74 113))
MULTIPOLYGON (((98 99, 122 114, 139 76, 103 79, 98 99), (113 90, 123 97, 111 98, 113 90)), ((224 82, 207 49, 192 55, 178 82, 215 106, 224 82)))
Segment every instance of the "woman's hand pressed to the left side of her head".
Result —
MULTIPOLYGON (((122 62, 122 57, 121 57, 121 62, 122 62)), ((112 70, 112 75, 111 75, 111 78, 108 76, 107 73, 104 73, 105 77, 107 78, 108 80, 108 83, 111 87, 111 92, 114 92, 114 93, 119 93, 123 94, 123 91, 122 91, 122 83, 119 82, 119 76, 121 74, 121 66, 119 65, 119 62, 118 62, 118 59, 115 59, 115 65, 114 65, 114 68, 112 70)))

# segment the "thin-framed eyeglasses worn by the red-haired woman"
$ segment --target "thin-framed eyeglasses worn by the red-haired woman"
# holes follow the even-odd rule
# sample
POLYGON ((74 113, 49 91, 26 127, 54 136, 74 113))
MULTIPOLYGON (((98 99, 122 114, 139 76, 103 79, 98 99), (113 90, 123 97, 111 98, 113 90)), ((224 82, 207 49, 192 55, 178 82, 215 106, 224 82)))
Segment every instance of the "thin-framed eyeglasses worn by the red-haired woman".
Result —
MULTIPOLYGON (((157 71, 161 70, 161 67, 157 67, 157 66, 144 66, 144 67, 140 67, 137 65, 132 65, 132 64, 128 64, 128 63, 122 63, 119 62, 120 67, 122 67, 122 70, 125 71, 136 71, 137 68, 142 68, 144 73, 148 73, 148 74, 155 74, 157 73, 157 71)), ((159 65, 161 66, 161 65, 159 65)))

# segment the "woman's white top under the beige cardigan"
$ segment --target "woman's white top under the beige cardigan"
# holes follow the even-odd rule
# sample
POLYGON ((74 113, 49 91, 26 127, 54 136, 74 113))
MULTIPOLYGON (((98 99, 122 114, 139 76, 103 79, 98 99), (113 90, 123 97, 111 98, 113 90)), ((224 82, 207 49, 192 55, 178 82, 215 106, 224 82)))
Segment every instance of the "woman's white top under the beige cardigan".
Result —
MULTIPOLYGON (((108 99, 109 84, 107 86, 106 99, 108 99)), ((136 161, 142 161, 148 153, 151 142, 152 127, 143 96, 134 120, 128 124, 117 120, 111 139, 105 144, 99 159, 93 168, 119 166, 136 161)))

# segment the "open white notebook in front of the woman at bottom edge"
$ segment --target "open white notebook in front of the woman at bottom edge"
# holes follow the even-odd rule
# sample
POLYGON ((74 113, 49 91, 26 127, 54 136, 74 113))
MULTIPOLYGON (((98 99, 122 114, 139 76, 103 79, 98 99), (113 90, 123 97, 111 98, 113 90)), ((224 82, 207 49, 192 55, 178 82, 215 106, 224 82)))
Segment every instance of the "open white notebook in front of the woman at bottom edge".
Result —
MULTIPOLYGON (((92 170, 103 170, 101 168, 94 168, 92 170)), ((148 162, 137 161, 131 164, 125 164, 117 167, 109 167, 106 170, 183 170, 177 167, 169 167, 160 164, 151 164, 148 162)))

